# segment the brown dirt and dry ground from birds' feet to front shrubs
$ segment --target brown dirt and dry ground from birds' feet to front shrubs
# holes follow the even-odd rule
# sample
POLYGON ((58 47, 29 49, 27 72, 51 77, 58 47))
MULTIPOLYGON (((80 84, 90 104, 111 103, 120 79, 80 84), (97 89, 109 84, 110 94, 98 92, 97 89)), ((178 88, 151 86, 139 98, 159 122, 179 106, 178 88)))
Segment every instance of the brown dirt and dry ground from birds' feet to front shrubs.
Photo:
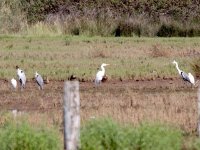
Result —
MULTIPOLYGON (((33 80, 23 91, 12 90, 5 80, 0 80, 0 85, 1 111, 17 109, 35 120, 46 115, 49 123, 62 124, 64 81, 50 81, 43 91, 33 80)), ((80 82, 80 99, 82 122, 106 116, 134 125, 161 121, 187 133, 196 132, 197 87, 181 79, 109 80, 99 87, 93 82, 80 82)))

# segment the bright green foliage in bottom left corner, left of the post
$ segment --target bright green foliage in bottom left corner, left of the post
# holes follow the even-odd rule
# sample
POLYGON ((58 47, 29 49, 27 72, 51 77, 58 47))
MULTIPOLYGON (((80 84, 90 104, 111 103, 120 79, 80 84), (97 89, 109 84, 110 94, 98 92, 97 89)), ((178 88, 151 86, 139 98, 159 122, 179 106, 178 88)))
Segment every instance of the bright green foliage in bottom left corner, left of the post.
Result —
POLYGON ((59 150, 58 134, 53 129, 34 128, 26 122, 8 122, 0 128, 1 150, 59 150))

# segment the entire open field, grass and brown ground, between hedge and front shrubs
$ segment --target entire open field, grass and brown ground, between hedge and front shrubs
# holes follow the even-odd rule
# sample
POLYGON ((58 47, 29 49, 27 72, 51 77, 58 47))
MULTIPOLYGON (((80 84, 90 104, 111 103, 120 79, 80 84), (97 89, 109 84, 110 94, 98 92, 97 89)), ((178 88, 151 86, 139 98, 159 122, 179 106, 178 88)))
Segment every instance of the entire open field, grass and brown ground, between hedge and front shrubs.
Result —
POLYGON ((194 74, 199 38, 15 35, 1 36, 0 45, 0 125, 17 109, 32 125, 45 122, 62 131, 63 81, 74 74, 87 81, 80 82, 81 124, 112 117, 133 126, 161 122, 196 135, 197 88, 184 84, 172 61, 194 74), (92 81, 103 62, 111 64, 106 68, 109 80, 95 88, 92 81), (24 91, 11 90, 16 65, 28 78, 24 91), (32 80, 35 71, 50 79, 43 91, 32 80))

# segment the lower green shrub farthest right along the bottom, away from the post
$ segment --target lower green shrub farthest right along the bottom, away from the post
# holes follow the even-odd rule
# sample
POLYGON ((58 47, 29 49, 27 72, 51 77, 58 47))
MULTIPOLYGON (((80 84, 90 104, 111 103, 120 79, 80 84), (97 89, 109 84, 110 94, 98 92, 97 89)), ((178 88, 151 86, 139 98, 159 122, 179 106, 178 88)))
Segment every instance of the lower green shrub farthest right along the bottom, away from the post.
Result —
POLYGON ((182 146, 181 132, 165 125, 142 124, 136 133, 140 139, 138 148, 142 150, 180 150, 182 146))

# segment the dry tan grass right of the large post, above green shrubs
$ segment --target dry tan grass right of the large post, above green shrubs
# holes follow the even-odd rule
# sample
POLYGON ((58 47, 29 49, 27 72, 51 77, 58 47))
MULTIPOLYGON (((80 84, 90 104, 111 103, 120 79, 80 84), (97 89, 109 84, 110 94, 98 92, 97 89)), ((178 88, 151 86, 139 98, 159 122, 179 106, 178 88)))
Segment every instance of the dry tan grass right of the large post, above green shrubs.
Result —
MULTIPOLYGON (((195 133, 197 126, 196 92, 141 91, 131 88, 120 91, 101 89, 82 94, 82 120, 93 117, 110 116, 116 120, 136 125, 144 121, 160 121, 180 127, 188 133, 195 133), (179 98, 181 95, 181 99, 179 98)), ((113 89, 112 89, 113 90, 113 89)))

